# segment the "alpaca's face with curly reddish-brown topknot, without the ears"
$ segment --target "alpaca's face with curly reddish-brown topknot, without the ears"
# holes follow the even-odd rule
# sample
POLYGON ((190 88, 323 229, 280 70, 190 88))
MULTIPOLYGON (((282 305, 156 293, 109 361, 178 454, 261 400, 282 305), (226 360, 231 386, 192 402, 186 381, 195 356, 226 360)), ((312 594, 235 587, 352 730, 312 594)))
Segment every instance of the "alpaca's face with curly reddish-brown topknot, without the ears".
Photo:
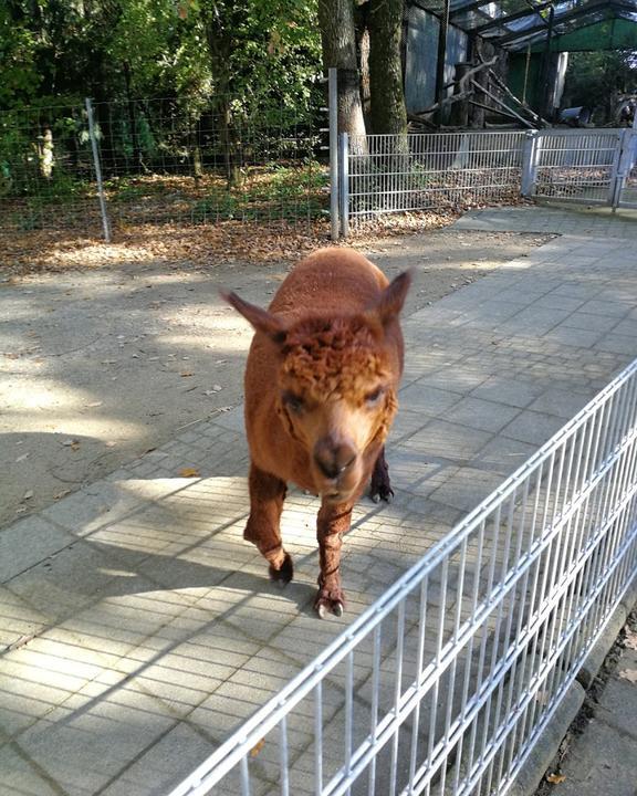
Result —
POLYGON ((396 412, 384 341, 359 318, 291 331, 280 370, 280 411, 307 451, 316 492, 343 502, 366 478, 364 454, 396 412))

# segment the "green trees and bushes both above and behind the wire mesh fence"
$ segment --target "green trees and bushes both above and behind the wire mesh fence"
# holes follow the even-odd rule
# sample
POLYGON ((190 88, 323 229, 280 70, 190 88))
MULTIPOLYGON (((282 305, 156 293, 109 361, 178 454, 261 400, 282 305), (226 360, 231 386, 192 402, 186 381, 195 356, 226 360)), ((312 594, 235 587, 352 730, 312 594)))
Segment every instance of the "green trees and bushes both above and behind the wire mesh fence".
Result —
POLYGON ((0 62, 0 197, 29 203, 29 224, 93 176, 86 96, 116 203, 144 197, 136 175, 194 168, 219 186, 195 214, 259 216, 321 192, 302 164, 322 98, 315 2, 3 0, 0 62), (268 179, 247 180, 247 163, 268 179))

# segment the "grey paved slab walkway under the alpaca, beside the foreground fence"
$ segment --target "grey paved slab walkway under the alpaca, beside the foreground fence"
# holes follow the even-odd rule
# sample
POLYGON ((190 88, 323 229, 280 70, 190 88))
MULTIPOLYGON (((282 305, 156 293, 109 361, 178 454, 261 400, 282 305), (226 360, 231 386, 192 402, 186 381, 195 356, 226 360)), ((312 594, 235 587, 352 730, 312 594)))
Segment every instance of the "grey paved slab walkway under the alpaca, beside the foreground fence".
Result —
POLYGON ((589 218, 459 222, 568 234, 405 318, 396 501, 356 512, 341 620, 311 609, 314 499, 286 503, 284 591, 241 540, 240 409, 2 532, 0 794, 165 794, 628 364, 637 223, 589 218))

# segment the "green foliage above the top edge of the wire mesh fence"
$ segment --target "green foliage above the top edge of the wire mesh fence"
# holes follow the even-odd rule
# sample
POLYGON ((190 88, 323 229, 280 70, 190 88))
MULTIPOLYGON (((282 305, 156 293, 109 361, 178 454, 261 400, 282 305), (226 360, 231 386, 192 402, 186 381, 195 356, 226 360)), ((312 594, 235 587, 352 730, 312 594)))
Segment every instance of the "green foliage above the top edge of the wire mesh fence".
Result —
POLYGON ((4 0, 0 109, 43 95, 215 95, 306 102, 320 71, 314 3, 301 0, 4 0))

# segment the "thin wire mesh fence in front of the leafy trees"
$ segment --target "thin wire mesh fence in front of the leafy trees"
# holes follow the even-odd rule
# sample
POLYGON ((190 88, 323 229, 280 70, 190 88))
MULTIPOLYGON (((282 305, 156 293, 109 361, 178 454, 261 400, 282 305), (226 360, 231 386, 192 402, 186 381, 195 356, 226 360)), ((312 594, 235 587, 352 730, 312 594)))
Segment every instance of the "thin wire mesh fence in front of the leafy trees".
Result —
POLYGON ((306 222, 328 207, 325 112, 312 94, 250 108, 224 97, 13 111, 0 122, 0 229, 98 233, 92 143, 111 226, 221 220, 306 222), (92 142, 92 135, 94 140, 92 142))

